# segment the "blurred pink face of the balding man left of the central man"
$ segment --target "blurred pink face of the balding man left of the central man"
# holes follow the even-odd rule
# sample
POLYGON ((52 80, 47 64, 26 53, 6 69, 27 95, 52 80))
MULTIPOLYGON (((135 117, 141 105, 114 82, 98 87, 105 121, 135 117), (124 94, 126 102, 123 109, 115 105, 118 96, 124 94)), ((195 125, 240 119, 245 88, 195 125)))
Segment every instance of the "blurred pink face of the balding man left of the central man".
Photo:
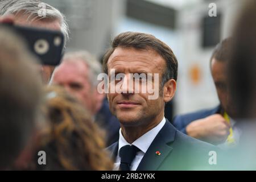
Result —
POLYGON ((95 114, 97 101, 96 89, 92 88, 89 80, 88 67, 82 60, 64 60, 56 68, 52 83, 63 86, 79 100, 90 113, 95 114))

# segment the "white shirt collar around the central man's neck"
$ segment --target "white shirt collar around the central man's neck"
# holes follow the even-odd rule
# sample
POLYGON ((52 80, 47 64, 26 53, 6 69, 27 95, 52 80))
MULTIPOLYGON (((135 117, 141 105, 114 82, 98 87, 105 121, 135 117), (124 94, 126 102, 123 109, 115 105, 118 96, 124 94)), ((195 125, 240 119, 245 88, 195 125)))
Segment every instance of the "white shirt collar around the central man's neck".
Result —
MULTIPOLYGON (((136 147, 138 147, 143 153, 146 153, 148 148, 150 147, 151 143, 155 139, 156 135, 159 133, 159 131, 162 129, 164 124, 166 123, 166 118, 163 118, 162 121, 155 126, 153 129, 139 137, 137 140, 135 140, 132 144, 136 147)), ((121 129, 119 130, 119 142, 118 142, 118 152, 120 148, 126 145, 131 145, 126 141, 126 139, 123 137, 121 129)))

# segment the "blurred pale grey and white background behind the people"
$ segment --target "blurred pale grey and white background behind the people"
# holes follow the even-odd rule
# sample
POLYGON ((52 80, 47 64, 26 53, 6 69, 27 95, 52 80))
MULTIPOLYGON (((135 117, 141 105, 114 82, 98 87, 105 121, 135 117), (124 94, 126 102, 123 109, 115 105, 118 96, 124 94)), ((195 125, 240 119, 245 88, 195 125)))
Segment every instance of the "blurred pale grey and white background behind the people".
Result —
POLYGON ((214 46, 231 35, 241 0, 44 0, 65 14, 71 29, 68 51, 86 49, 99 59, 124 31, 156 36, 179 61, 174 115, 218 105, 210 75, 214 46), (210 3, 217 16, 210 17, 210 3))

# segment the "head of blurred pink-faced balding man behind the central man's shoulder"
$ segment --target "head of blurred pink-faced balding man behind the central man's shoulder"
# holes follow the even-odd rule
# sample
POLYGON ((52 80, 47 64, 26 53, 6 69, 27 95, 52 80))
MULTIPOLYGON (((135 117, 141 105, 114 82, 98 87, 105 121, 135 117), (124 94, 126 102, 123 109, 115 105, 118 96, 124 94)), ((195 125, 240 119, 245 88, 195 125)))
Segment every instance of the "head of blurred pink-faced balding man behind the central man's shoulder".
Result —
POLYGON ((105 97, 97 91, 97 76, 100 73, 101 64, 89 52, 69 52, 56 68, 51 82, 63 86, 95 115, 105 97))

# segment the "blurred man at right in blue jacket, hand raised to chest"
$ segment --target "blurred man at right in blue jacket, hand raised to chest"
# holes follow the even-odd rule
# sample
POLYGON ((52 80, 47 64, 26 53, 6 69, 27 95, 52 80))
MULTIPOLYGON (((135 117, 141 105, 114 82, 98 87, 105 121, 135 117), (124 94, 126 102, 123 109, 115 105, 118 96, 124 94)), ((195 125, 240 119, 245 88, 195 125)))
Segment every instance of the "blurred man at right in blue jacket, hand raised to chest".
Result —
POLYGON ((210 68, 216 86, 220 105, 209 110, 177 115, 174 126, 191 137, 212 144, 229 147, 238 143, 241 132, 232 119, 234 109, 228 102, 227 63, 231 52, 232 39, 219 43, 210 58, 210 68))

